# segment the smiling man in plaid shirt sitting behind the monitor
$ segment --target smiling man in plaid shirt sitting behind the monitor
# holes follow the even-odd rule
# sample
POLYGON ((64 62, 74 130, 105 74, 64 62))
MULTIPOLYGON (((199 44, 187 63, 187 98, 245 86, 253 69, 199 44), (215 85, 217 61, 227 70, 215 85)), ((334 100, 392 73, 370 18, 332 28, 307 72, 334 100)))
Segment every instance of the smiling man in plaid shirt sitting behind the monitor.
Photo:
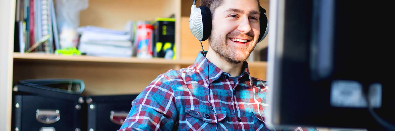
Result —
POLYGON ((201 0, 201 6, 213 18, 208 63, 200 52, 194 65, 159 75, 132 102, 120 131, 268 130, 266 83, 250 76, 246 62, 259 41, 259 1, 201 0))

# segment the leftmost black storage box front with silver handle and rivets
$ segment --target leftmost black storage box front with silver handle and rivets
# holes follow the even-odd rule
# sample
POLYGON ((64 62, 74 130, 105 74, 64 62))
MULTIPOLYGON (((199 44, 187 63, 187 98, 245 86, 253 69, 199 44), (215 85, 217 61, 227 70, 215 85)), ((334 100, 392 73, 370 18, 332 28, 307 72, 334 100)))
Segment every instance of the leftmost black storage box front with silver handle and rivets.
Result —
POLYGON ((73 101, 16 95, 16 104, 19 107, 15 109, 15 124, 19 131, 40 131, 41 127, 54 127, 56 131, 75 131, 77 127, 75 120, 79 111, 75 109, 73 101))

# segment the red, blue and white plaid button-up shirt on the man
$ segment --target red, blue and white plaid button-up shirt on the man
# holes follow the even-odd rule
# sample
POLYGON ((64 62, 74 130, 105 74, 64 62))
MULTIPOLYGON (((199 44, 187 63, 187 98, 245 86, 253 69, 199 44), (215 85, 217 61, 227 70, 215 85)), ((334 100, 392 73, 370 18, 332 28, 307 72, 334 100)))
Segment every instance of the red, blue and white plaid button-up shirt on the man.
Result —
MULTIPOLYGON (((237 80, 234 83, 228 73, 213 63, 207 65, 200 52, 194 65, 169 70, 152 81, 132 102, 132 109, 119 131, 268 130, 264 125, 265 81, 250 76, 247 62, 237 80)), ((316 130, 301 127, 287 130, 294 129, 316 130)))

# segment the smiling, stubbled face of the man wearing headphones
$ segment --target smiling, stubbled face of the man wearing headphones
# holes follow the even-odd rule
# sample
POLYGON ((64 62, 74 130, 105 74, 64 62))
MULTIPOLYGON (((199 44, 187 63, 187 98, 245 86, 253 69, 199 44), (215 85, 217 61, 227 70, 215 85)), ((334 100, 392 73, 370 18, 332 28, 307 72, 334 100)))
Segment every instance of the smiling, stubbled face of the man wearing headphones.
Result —
POLYGON ((211 48, 229 63, 247 60, 260 33, 257 0, 224 0, 213 13, 211 48))

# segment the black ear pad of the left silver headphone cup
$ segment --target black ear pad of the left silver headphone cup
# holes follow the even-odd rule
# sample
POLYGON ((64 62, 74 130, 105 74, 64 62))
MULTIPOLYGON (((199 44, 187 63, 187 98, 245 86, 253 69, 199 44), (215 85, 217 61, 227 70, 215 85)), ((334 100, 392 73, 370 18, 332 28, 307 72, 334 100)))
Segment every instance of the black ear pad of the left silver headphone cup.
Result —
POLYGON ((209 7, 206 6, 199 6, 198 8, 201 10, 201 20, 203 25, 203 38, 201 41, 205 41, 211 34, 211 11, 209 7))

